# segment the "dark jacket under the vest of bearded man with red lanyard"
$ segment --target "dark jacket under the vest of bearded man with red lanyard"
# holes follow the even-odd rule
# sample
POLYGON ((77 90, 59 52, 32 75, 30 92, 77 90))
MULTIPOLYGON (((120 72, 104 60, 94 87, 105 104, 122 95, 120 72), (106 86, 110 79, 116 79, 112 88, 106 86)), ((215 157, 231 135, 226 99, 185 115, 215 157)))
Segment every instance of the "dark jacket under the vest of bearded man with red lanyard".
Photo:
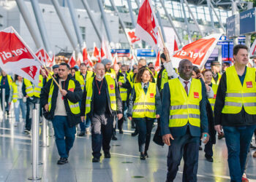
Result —
MULTIPOLYGON (((103 82, 105 82, 106 85, 108 85, 107 80, 104 78, 103 82)), ((116 83, 116 82, 115 82, 116 83)), ((91 118, 94 114, 94 84, 95 84, 95 77, 94 77, 94 81, 92 82, 92 96, 91 96, 91 111, 89 113, 89 117, 91 118)), ((106 92, 107 92, 107 100, 108 100, 108 108, 110 111, 110 115, 111 116, 115 116, 116 114, 122 114, 122 103, 121 103, 121 96, 120 93, 118 91, 118 86, 116 84, 115 87, 115 91, 116 91, 116 107, 117 107, 117 111, 113 111, 111 109, 111 105, 110 105, 110 96, 108 93, 108 87, 106 87, 106 92)), ((86 113, 86 89, 83 90, 83 99, 81 102, 81 116, 85 116, 86 113)))

